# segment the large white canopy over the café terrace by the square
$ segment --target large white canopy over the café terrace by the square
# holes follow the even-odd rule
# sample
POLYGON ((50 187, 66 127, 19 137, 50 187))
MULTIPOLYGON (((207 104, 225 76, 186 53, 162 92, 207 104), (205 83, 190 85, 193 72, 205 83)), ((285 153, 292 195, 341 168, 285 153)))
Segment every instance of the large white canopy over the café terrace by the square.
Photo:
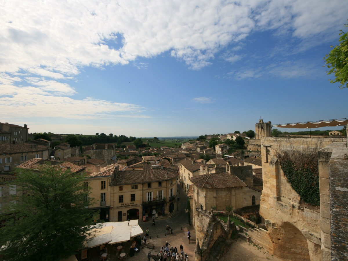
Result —
POLYGON ((130 220, 124 222, 106 222, 97 224, 97 226, 90 226, 92 240, 88 241, 88 247, 96 247, 106 243, 116 244, 128 241, 131 237, 143 234, 143 230, 138 225, 138 220, 130 220))

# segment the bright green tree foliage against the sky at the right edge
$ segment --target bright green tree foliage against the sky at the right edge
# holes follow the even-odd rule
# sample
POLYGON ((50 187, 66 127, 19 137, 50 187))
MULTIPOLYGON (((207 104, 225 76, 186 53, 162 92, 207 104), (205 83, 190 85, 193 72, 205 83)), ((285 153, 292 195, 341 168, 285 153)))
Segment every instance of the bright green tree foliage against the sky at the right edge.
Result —
MULTIPOLYGON (((345 24, 348 27, 348 24, 345 24)), ((339 35, 341 35, 339 42, 340 44, 337 46, 331 46, 333 48, 330 54, 327 54, 324 57, 326 61, 326 66, 329 71, 327 74, 334 73, 335 79, 331 80, 331 83, 339 82, 341 85, 339 86, 341 89, 348 88, 348 32, 343 32, 340 30, 339 35)))

